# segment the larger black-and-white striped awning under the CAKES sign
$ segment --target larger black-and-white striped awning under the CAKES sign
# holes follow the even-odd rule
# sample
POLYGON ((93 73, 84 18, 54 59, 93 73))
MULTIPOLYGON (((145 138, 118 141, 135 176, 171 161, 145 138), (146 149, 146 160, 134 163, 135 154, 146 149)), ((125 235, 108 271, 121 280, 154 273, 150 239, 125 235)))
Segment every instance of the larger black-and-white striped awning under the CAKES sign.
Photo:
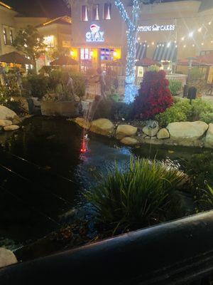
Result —
POLYGON ((178 46, 176 43, 158 43, 153 56, 154 61, 176 61, 178 46))

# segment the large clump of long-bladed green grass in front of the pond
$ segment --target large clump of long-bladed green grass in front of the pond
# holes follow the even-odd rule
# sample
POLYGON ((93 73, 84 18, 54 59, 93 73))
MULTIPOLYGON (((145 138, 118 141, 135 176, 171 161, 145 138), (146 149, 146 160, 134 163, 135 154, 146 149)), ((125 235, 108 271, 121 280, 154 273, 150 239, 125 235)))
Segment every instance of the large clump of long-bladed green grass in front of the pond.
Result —
POLYGON ((162 162, 132 158, 127 170, 115 165, 86 197, 100 222, 114 232, 124 232, 165 221, 184 178, 162 162))

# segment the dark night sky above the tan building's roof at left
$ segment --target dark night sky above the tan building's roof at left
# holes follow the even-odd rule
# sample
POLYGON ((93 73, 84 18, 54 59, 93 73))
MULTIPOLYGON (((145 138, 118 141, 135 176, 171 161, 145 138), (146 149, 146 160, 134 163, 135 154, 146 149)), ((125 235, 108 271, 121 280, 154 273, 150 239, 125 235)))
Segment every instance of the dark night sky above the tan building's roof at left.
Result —
POLYGON ((2 0, 13 9, 27 16, 45 16, 49 18, 70 16, 70 11, 62 0, 2 0))

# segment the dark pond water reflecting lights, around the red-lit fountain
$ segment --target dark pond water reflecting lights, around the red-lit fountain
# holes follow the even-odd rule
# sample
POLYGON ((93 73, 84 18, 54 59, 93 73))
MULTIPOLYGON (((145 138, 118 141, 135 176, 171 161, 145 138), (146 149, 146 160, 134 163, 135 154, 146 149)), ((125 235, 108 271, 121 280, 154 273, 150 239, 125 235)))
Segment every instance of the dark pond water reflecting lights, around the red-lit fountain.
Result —
POLYGON ((67 212, 84 208, 85 189, 99 172, 131 155, 182 163, 199 149, 143 145, 122 147, 89 134, 80 152, 82 130, 59 118, 26 120, 15 133, 0 135, 0 247, 16 249, 57 229, 67 212))

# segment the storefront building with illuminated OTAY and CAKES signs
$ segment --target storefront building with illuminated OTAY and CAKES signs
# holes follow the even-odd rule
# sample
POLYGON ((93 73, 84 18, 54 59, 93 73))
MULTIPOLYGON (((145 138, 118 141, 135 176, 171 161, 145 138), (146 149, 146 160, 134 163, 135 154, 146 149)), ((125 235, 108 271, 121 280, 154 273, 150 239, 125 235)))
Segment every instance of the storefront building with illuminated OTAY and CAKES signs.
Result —
MULTIPOLYGON (((131 1, 123 0, 127 11, 131 1)), ((136 60, 152 58, 169 72, 178 60, 213 52, 213 1, 143 4, 138 21, 136 60)), ((72 7, 73 56, 82 71, 126 59, 126 24, 114 1, 79 0, 72 7)), ((116 64, 114 64, 116 65, 116 64)), ((138 74, 143 74, 137 68, 138 74)))

